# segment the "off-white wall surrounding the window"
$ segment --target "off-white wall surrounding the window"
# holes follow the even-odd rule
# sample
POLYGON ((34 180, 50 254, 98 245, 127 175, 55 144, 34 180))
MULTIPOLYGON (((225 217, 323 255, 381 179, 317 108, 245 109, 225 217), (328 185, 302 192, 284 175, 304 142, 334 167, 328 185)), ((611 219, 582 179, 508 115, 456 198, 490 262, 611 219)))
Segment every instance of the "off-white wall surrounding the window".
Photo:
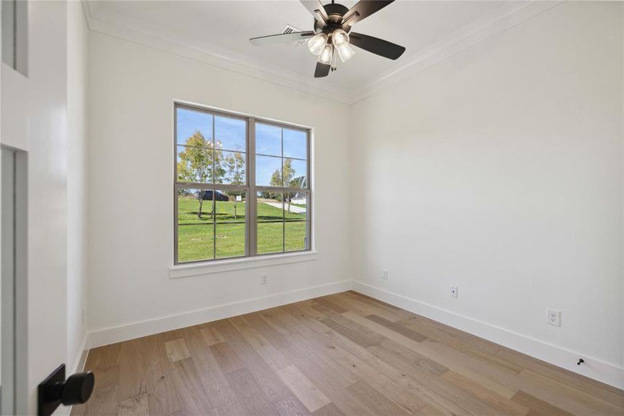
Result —
MULTIPOLYGON (((193 311, 350 279, 346 105, 96 32, 88 78, 90 331, 171 315, 191 324, 193 311), (175 99, 315 129, 317 260, 169 278, 175 99)), ((132 328, 124 336, 141 333, 132 328)))

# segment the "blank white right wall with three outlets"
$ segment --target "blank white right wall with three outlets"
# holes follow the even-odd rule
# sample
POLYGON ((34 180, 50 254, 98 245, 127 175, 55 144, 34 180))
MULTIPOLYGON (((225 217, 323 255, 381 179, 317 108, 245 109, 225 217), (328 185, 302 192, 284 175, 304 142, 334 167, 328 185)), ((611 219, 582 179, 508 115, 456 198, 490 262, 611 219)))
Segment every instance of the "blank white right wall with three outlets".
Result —
POLYGON ((562 3, 353 106, 361 287, 622 365, 621 8, 562 3))

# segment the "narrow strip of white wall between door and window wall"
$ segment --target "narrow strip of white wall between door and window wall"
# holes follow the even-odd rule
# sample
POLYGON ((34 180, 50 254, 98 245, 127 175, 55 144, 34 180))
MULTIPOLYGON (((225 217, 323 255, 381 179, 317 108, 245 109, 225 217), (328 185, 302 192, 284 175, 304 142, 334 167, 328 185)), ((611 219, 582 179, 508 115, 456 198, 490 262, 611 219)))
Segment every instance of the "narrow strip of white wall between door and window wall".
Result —
POLYGON ((87 336, 87 21, 67 3, 67 366, 75 370, 87 336), (86 314, 84 315, 86 318, 86 314))

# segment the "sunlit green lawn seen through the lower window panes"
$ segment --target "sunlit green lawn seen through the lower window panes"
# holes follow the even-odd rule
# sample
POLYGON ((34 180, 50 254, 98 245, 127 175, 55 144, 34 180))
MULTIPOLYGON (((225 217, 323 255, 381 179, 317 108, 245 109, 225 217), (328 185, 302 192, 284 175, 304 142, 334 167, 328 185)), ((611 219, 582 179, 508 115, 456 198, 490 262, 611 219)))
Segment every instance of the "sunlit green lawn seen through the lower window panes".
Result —
MULTIPOLYGON (((197 198, 178 198, 178 261, 244 256, 245 202, 216 201, 215 211, 213 215, 212 201, 204 201, 200 218, 197 216, 197 198)), ((258 254, 283 252, 284 248, 285 251, 305 248, 305 214, 286 211, 284 215, 281 208, 267 205, 262 200, 258 200, 257 211, 258 254)))

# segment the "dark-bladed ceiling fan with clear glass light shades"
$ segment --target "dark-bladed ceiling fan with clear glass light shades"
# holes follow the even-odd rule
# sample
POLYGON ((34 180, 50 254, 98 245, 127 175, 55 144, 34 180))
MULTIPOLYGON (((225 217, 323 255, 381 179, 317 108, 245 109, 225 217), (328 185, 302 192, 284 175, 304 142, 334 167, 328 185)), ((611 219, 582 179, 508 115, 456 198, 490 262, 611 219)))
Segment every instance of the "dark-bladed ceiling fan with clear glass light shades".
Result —
POLYGON ((336 55, 342 62, 350 60, 355 55, 353 46, 392 60, 399 58, 405 51, 403 46, 386 40, 351 32, 353 24, 378 12, 394 0, 360 0, 350 9, 334 3, 334 0, 325 6, 319 0, 299 1, 314 16, 314 31, 252 37, 249 42, 256 46, 267 46, 310 38, 307 42, 310 52, 319 55, 314 71, 315 78, 328 76, 330 69, 336 69, 336 55))

